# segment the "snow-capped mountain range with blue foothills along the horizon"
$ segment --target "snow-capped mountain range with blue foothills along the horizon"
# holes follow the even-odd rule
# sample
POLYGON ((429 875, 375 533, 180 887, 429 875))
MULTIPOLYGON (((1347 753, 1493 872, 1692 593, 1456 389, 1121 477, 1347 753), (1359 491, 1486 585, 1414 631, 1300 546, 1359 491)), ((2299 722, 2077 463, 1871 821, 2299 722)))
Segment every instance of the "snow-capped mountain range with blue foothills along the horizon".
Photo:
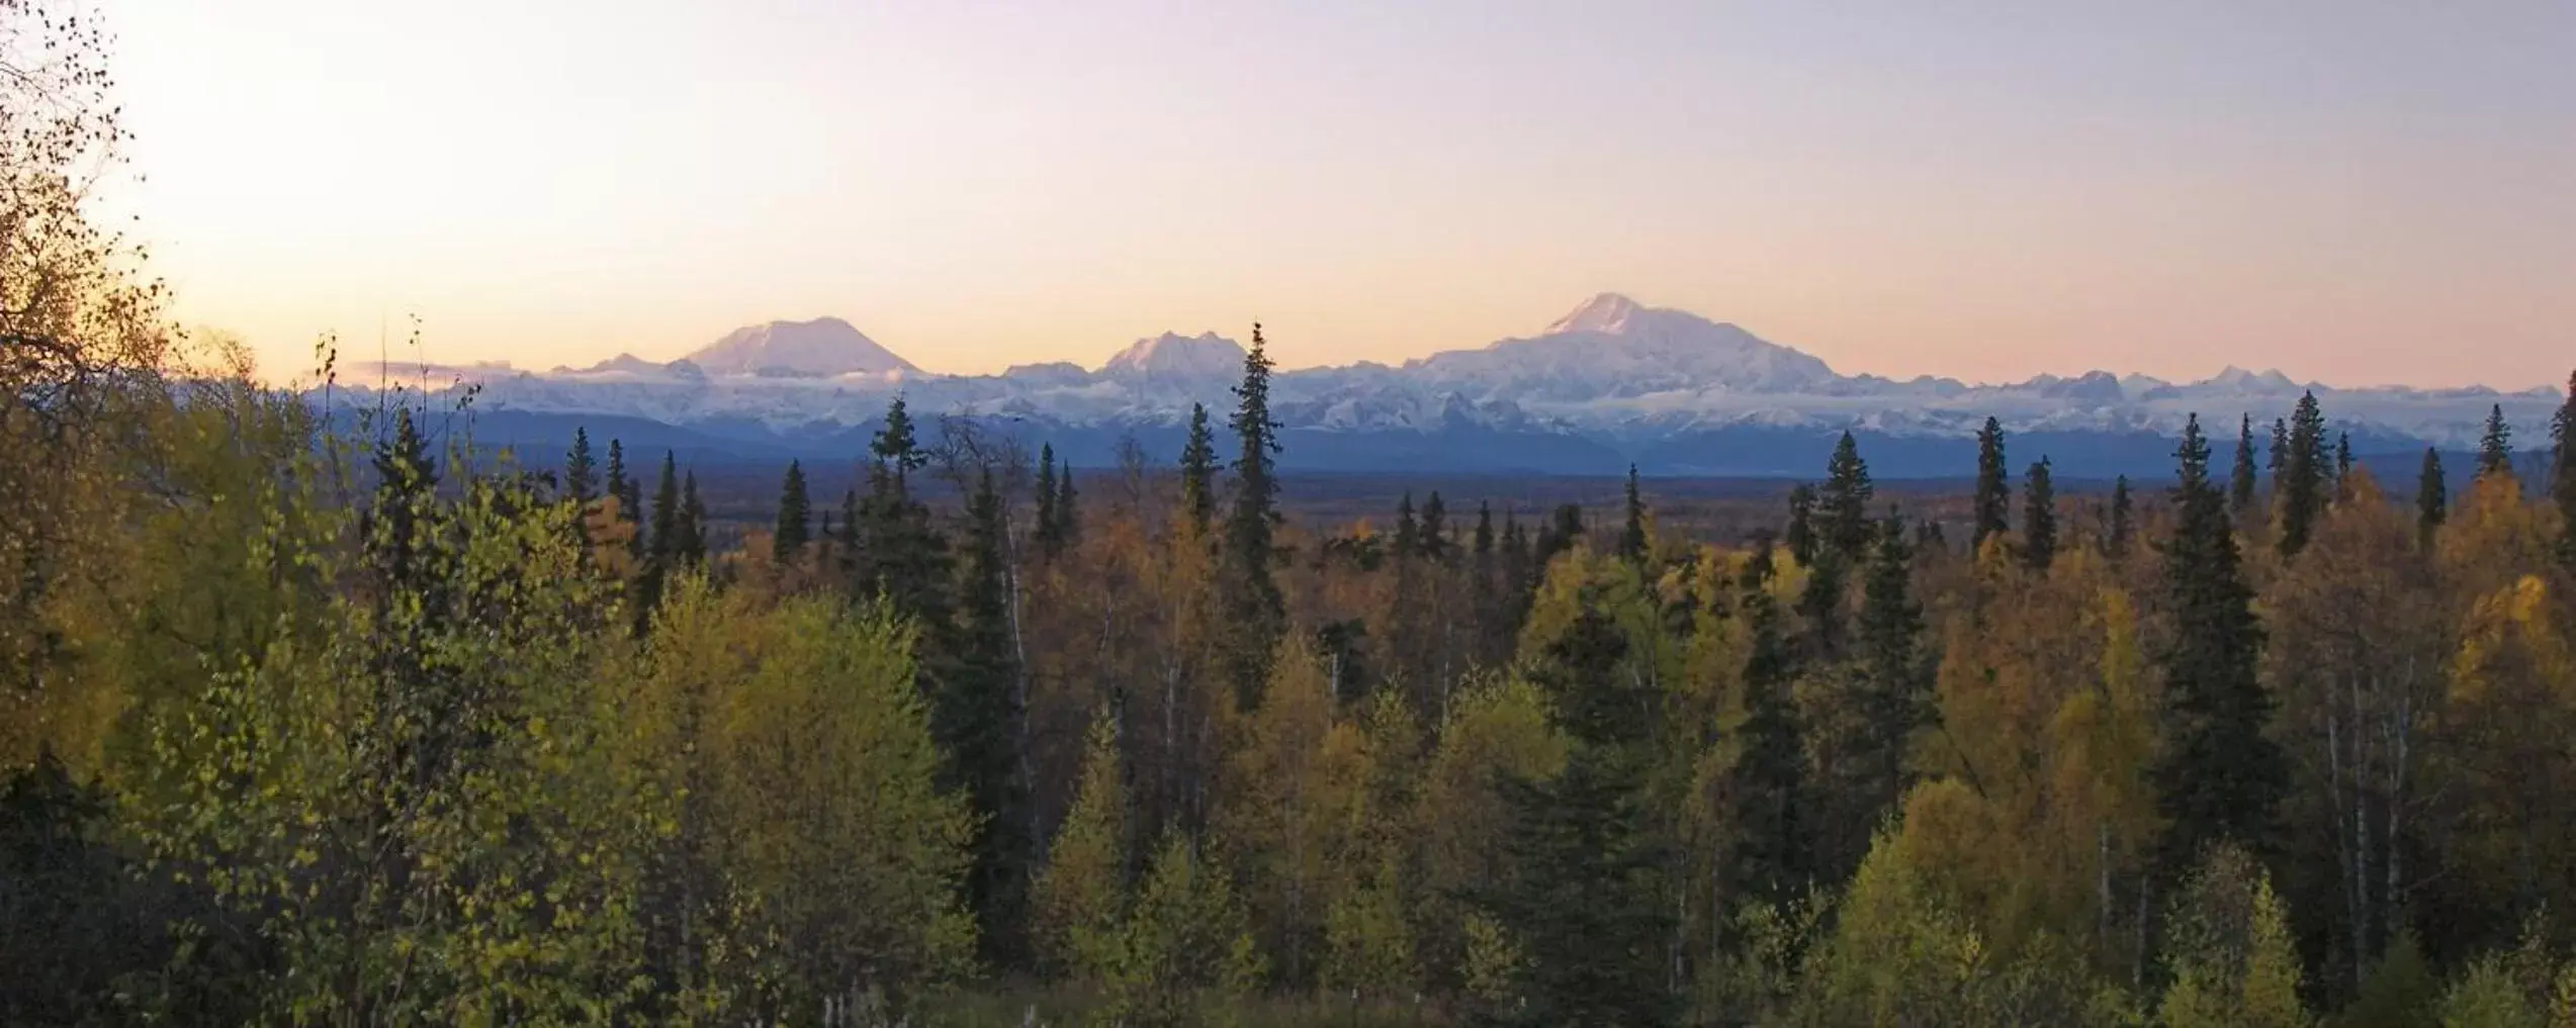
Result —
MULTIPOLYGON (((1190 405, 1224 423, 1242 363, 1231 338, 1164 332, 1097 368, 953 376, 822 317, 742 327, 667 363, 621 353, 587 368, 471 366, 430 379, 479 386, 479 435, 500 443, 562 446, 572 425, 616 423, 634 430, 629 446, 848 459, 902 394, 914 417, 1010 425, 1077 464, 1105 466, 1126 438, 1172 459, 1190 405)), ((1744 327, 1600 294, 1528 338, 1401 366, 1280 371, 1273 417, 1283 466, 1309 471, 1615 474, 1638 464, 1646 474, 1808 477, 1852 430, 1880 477, 1950 477, 1976 469, 1973 433, 1991 415, 2012 435, 2014 461, 2045 453, 2063 477, 2164 477, 2184 417, 2197 412, 2221 451, 2239 415, 2254 417, 2259 446, 2269 420, 2311 389, 2365 456, 2468 448, 2496 405, 2522 438, 2540 438, 2561 402, 2555 389, 2334 389, 2244 368, 2200 381, 2110 371, 1899 381, 1839 374, 1744 327)))

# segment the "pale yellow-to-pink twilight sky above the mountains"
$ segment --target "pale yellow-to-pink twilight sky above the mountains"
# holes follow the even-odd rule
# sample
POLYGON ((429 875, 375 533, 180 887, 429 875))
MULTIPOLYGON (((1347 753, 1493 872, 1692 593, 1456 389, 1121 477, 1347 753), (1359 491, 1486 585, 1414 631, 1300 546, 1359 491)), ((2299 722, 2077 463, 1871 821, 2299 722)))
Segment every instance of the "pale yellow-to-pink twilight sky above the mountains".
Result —
MULTIPOLYGON (((2576 3, 93 0, 178 314, 1285 366, 1597 291, 1844 374, 2576 363, 2576 3)), ((399 350, 399 348, 397 348, 399 350)))

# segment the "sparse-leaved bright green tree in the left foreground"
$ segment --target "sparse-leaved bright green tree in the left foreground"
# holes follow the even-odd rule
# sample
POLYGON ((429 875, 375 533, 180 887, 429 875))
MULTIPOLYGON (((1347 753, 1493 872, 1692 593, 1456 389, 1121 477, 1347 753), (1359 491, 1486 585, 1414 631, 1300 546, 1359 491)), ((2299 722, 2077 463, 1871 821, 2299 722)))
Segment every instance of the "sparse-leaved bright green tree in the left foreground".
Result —
POLYGON ((613 608, 569 505, 507 474, 440 500, 407 423, 363 559, 286 557, 363 587, 155 711, 137 830, 278 948, 263 1018, 613 1018, 652 832, 585 760, 616 732, 587 675, 613 608))

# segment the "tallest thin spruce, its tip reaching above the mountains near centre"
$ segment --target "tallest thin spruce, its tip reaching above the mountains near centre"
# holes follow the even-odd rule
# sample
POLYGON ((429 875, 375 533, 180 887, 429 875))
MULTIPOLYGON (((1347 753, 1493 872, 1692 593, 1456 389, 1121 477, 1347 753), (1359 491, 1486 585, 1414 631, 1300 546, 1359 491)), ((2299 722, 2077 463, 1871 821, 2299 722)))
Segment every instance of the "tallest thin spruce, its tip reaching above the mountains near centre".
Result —
POLYGON ((1218 577, 1218 608, 1234 626, 1226 652, 1226 678, 1242 706, 1255 706, 1270 678, 1270 652, 1285 631, 1285 605, 1270 577, 1270 538, 1280 523, 1278 453, 1280 425, 1270 420, 1270 353, 1260 322, 1244 350, 1244 381, 1234 386, 1234 510, 1226 515, 1226 549, 1218 577))

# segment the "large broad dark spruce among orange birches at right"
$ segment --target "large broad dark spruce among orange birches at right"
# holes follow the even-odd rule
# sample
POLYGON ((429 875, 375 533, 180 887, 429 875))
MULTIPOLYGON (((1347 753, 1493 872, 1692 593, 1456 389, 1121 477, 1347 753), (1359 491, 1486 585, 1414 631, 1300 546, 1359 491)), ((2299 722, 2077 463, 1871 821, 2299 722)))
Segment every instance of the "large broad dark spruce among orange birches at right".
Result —
POLYGON ((2154 647, 2164 670, 2164 745, 2148 765, 2166 819, 2166 871, 2190 866, 2213 842, 2269 842, 2287 788, 2287 763, 2269 734, 2272 693, 2257 678, 2264 631, 2197 417, 2174 456, 2174 536, 2161 546, 2172 631, 2154 647))

